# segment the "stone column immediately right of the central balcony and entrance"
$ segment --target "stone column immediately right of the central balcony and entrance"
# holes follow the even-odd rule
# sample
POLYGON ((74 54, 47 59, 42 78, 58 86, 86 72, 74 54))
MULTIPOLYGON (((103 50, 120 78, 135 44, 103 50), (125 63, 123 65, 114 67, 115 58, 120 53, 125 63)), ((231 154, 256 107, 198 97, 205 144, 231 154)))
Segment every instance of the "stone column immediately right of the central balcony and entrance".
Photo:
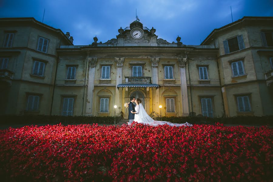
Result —
MULTIPOLYGON (((160 58, 150 58, 152 63, 152 83, 159 84, 158 80, 158 62, 160 58)), ((160 96, 159 96, 159 88, 153 88, 153 111, 160 113, 159 105, 160 105, 160 96)))

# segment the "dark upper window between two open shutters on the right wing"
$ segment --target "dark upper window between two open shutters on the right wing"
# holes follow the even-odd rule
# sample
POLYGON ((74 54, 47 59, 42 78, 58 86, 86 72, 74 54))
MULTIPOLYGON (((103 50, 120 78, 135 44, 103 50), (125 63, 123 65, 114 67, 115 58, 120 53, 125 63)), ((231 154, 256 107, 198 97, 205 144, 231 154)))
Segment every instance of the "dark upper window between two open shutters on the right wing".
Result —
POLYGON ((230 53, 244 49, 243 35, 238 35, 234 38, 224 40, 225 53, 230 53))

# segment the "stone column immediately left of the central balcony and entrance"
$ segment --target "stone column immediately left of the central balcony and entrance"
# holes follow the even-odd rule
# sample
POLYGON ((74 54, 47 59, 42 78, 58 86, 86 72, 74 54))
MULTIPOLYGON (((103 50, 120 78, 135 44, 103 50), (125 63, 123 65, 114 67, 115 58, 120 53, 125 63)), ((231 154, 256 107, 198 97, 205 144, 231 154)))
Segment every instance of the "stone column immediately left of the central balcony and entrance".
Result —
POLYGON ((115 58, 116 62, 116 96, 114 105, 117 107, 122 107, 122 88, 118 89, 117 86, 119 84, 122 84, 122 68, 123 68, 123 62, 125 58, 115 58))

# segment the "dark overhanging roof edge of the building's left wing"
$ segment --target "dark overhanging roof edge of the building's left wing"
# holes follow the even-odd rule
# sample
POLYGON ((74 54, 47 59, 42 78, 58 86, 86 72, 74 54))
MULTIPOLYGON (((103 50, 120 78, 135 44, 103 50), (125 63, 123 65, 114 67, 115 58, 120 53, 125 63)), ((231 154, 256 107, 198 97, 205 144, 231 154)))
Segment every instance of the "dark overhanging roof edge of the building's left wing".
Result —
MULTIPOLYGON (((16 21, 19 21, 19 22, 24 22, 24 21, 25 21, 25 22, 35 23, 35 24, 38 25, 38 26, 42 26, 42 27, 44 27, 44 28, 46 28, 46 29, 49 29, 49 30, 51 30, 51 31, 56 32, 57 34, 60 34, 61 37, 62 37, 63 39, 66 40, 67 43, 69 43, 70 45, 73 45, 73 43, 69 40, 69 38, 67 38, 67 36, 62 32, 61 29, 56 29, 56 28, 54 28, 54 27, 52 27, 52 26, 46 25, 46 24, 44 24, 44 23, 42 23, 42 22, 37 21, 37 20, 36 20, 35 18, 33 18, 33 17, 24 17, 24 18, 0 18, 0 22, 16 22, 16 21)), ((3 26, 3 23, 1 23, 1 25, 3 26)))

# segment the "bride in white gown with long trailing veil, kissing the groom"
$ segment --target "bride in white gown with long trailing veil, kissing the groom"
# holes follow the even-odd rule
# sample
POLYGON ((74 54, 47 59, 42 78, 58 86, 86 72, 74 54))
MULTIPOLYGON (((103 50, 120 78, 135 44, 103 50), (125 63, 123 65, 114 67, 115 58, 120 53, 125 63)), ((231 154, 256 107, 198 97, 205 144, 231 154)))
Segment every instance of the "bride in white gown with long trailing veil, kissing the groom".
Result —
POLYGON ((136 112, 131 111, 131 113, 135 114, 134 121, 136 121, 137 123, 148 124, 150 126, 158 126, 158 125, 164 125, 164 124, 167 124, 170 126, 192 126, 192 124, 187 122, 178 124, 178 123, 171 123, 168 121, 155 121, 146 113, 143 105, 141 104, 141 100, 139 98, 135 100, 135 103, 136 103, 136 107, 135 107, 136 112))

